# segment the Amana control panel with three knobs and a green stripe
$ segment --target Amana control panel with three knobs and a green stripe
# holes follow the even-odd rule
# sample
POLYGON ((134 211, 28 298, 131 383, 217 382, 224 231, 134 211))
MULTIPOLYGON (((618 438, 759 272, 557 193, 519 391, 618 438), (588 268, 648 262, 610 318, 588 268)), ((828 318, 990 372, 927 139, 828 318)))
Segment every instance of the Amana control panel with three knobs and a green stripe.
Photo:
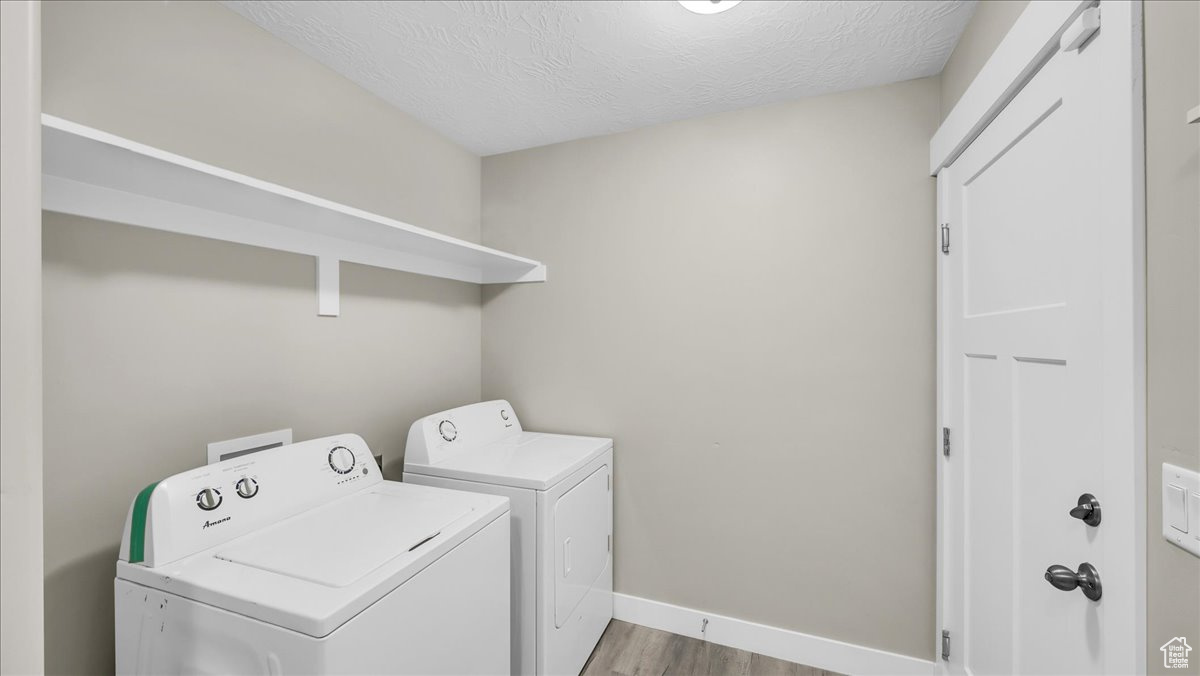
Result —
POLYGON ((205 465, 138 493, 125 519, 120 558, 163 566, 380 481, 358 435, 205 465))

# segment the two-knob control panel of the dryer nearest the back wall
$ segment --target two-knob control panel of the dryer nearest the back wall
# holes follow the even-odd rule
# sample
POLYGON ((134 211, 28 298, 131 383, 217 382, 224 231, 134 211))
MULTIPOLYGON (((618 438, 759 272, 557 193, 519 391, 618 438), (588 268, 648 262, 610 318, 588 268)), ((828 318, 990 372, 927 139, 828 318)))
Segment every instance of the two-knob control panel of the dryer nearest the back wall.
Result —
POLYGON ((404 462, 437 465, 457 453, 521 433, 521 421, 503 399, 426 415, 408 429, 404 462))

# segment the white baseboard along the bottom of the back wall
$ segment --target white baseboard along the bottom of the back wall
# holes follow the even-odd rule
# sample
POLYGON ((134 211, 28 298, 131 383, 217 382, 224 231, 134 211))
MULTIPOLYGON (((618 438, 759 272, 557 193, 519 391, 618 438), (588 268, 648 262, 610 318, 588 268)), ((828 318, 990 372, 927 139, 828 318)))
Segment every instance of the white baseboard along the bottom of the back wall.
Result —
POLYGON ((929 676, 942 671, 936 663, 914 657, 628 594, 613 594, 613 617, 841 674, 929 676), (701 634, 704 620, 708 624, 701 634))

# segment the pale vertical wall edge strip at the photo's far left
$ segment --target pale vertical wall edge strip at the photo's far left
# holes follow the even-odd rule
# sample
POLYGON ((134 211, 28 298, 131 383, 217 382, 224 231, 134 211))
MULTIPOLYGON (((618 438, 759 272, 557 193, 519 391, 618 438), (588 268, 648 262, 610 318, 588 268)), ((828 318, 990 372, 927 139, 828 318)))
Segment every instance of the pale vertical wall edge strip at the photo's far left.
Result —
POLYGON ((41 4, 0 2, 0 674, 42 670, 41 4))

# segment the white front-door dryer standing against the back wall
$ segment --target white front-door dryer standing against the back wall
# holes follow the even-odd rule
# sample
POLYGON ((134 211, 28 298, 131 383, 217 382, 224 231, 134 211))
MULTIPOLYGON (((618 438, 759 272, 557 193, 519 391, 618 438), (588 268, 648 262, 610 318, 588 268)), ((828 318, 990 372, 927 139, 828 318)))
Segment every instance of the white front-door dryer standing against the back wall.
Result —
POLYGON ((612 620, 612 439, 526 432, 487 401, 413 423, 403 480, 509 498, 512 672, 578 674, 612 620))

